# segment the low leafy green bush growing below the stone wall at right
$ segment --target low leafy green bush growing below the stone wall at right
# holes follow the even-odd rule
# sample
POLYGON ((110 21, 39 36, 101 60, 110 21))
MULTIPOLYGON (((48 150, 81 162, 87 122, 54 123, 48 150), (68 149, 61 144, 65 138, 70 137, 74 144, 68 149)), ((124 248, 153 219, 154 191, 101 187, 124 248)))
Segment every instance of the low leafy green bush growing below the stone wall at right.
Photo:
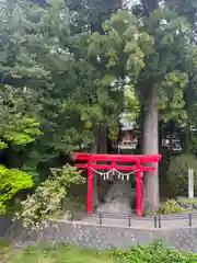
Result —
POLYGON ((130 251, 113 251, 112 256, 118 259, 119 262, 128 263, 195 263, 197 254, 185 253, 177 250, 169 249, 161 242, 151 242, 148 245, 139 245, 130 251), (123 261, 121 261, 123 260, 123 261))

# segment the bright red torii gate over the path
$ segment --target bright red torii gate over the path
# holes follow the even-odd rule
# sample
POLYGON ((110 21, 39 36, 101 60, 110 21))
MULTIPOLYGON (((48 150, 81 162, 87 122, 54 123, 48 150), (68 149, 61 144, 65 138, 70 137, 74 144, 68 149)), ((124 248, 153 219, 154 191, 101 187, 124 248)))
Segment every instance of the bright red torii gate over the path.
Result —
POLYGON ((86 161, 86 163, 76 163, 79 169, 88 169, 88 193, 86 193, 86 211, 92 213, 92 184, 93 169, 116 169, 119 171, 134 171, 136 173, 136 213, 138 216, 142 214, 142 190, 141 190, 141 172, 154 171, 154 167, 144 167, 146 162, 159 162, 161 155, 150 156, 129 156, 129 155, 101 155, 101 153, 83 153, 72 152, 74 161, 86 161), (107 161, 111 164, 99 164, 96 161, 107 161), (135 162, 135 165, 120 165, 121 162, 135 162))

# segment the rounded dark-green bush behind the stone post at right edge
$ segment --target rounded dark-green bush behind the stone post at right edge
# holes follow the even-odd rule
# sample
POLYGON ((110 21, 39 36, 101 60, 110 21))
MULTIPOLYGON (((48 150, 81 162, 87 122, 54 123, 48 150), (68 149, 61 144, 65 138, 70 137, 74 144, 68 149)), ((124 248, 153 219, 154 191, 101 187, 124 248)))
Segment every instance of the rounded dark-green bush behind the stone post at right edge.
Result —
POLYGON ((194 156, 182 155, 171 159, 167 182, 177 196, 188 193, 188 169, 194 169, 194 191, 197 193, 197 160, 194 156))

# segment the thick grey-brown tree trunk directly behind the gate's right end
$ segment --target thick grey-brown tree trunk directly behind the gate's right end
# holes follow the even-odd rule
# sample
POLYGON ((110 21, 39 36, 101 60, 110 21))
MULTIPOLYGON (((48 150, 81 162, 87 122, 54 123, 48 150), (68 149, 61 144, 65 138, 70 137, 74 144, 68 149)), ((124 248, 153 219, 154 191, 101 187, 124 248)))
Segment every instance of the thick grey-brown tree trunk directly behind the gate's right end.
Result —
MULTIPOLYGON (((157 87, 152 89, 148 106, 143 116, 143 155, 159 153, 159 110, 157 100, 157 87)), ((143 207, 146 210, 155 211, 159 209, 159 167, 158 163, 150 163, 155 167, 154 172, 146 172, 143 181, 143 207)))

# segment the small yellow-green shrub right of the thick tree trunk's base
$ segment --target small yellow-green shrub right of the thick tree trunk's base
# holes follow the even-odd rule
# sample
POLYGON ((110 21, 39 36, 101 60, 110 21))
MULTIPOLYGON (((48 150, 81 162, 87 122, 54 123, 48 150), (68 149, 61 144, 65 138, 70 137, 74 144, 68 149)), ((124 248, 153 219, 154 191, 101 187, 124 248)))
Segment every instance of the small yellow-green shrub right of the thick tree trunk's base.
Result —
POLYGON ((189 209, 182 207, 175 199, 167 199, 160 208, 161 214, 173 214, 188 211, 189 209))

